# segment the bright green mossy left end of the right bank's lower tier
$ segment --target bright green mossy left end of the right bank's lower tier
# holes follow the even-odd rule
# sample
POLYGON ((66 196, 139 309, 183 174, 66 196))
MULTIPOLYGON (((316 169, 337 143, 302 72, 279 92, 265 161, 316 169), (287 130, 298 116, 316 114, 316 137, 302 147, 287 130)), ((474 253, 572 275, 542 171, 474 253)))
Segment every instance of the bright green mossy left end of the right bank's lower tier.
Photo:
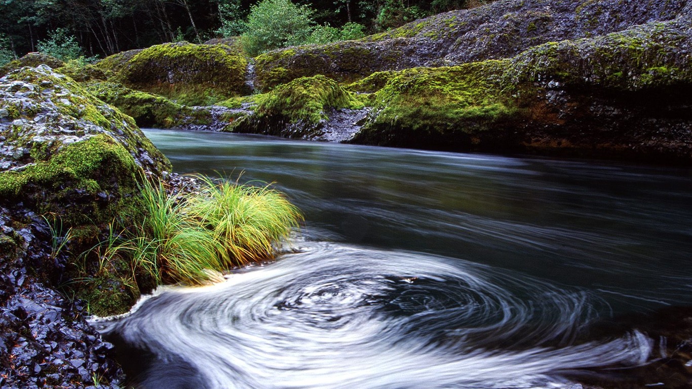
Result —
POLYGON ((508 60, 389 74, 354 143, 471 149, 492 129, 521 120, 502 84, 508 60))

